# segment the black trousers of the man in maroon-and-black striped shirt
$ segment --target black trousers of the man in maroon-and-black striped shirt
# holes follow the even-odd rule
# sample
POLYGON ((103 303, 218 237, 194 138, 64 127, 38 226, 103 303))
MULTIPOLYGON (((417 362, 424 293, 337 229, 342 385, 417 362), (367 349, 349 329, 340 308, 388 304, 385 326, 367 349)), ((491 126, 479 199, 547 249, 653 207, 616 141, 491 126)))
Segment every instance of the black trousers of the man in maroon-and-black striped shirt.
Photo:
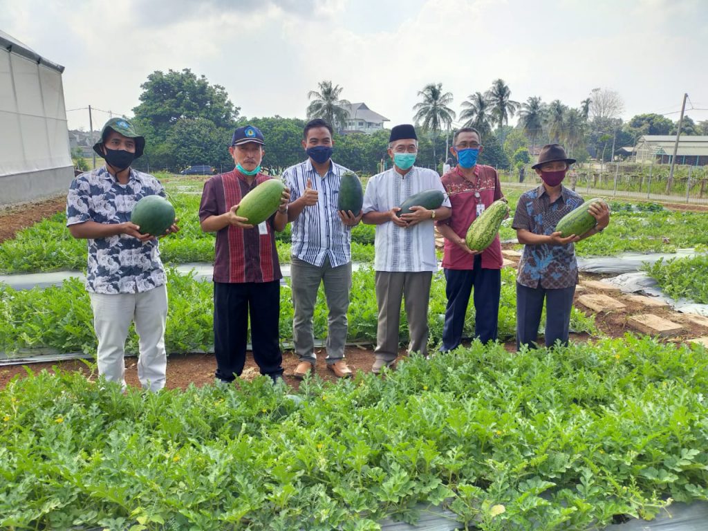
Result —
POLYGON ((261 375, 282 374, 280 319, 280 280, 273 282, 214 282, 214 351, 216 377, 233 382, 246 362, 246 334, 251 315, 253 359, 261 375))

